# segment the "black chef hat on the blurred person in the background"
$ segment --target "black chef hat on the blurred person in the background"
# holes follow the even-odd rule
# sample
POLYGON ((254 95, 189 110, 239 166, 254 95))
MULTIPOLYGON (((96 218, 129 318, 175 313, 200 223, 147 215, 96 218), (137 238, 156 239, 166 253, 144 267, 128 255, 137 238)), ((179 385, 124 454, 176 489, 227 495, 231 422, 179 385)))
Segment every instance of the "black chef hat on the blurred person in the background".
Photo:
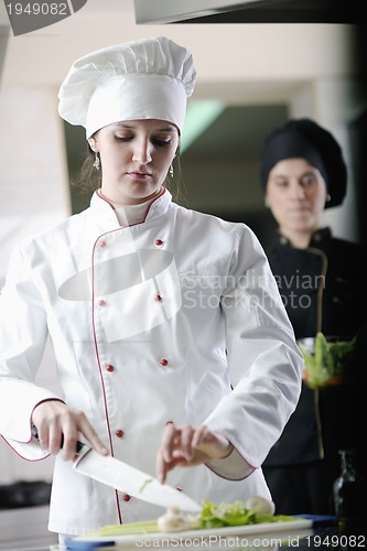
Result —
POLYGON ((291 119, 266 138, 260 155, 263 190, 271 169, 283 159, 295 158, 306 159, 323 175, 331 196, 325 208, 341 205, 347 184, 342 149, 327 130, 311 119, 291 119))

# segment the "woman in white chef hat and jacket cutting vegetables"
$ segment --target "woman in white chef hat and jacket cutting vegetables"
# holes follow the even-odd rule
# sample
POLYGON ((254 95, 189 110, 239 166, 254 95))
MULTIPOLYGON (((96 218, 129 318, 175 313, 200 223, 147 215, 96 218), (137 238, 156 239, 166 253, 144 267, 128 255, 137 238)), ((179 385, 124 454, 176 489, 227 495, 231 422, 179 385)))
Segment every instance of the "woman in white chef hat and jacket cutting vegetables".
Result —
POLYGON ((28 460, 57 454, 48 528, 61 534, 161 512, 76 473, 77 439, 199 503, 270 498, 260 467, 303 360, 252 231, 165 187, 194 82, 192 55, 159 36, 77 60, 60 89, 100 184, 89 208, 12 256, 0 433, 28 460), (34 383, 47 335, 63 396, 34 383))

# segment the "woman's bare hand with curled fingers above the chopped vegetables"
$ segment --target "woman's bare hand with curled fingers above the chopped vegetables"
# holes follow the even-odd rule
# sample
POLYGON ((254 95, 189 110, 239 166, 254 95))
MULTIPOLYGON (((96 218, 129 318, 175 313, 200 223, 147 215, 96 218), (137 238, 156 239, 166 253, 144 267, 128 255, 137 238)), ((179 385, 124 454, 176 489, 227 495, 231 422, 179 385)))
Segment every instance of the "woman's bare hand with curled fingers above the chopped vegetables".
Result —
POLYGON ((223 458, 229 455, 233 449, 225 436, 205 425, 194 429, 190 424, 177 428, 174 423, 169 423, 156 454, 156 477, 164 483, 166 474, 174 467, 193 467, 211 460, 223 458))

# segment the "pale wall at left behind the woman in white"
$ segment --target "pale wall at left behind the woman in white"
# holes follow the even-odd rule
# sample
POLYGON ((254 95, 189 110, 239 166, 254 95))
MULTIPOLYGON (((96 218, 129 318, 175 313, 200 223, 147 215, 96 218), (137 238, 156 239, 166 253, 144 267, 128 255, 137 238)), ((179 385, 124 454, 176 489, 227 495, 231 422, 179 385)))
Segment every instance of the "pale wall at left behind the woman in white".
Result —
MULTIPOLYGON (((69 214, 62 125, 55 111, 53 90, 20 86, 1 90, 1 287, 15 242, 69 214)), ((50 344, 39 382, 58 390, 50 344)), ((52 469, 53 460, 28 463, 0 440, 0 484, 19 479, 51 479, 52 469)))

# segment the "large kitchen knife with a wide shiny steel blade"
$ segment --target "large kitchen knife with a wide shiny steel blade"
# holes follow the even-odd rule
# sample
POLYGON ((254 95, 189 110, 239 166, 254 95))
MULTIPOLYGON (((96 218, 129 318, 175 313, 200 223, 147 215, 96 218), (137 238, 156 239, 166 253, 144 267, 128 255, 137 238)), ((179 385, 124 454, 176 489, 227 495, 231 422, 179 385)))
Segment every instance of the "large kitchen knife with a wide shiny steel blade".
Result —
MULTIPOLYGON (((39 440, 35 426, 32 428, 32 433, 39 440)), ((73 468, 79 474, 150 504, 165 508, 180 507, 187 512, 202 510, 202 506, 183 491, 168 484, 161 484, 158 478, 111 455, 101 455, 79 441, 76 443, 73 468)))

